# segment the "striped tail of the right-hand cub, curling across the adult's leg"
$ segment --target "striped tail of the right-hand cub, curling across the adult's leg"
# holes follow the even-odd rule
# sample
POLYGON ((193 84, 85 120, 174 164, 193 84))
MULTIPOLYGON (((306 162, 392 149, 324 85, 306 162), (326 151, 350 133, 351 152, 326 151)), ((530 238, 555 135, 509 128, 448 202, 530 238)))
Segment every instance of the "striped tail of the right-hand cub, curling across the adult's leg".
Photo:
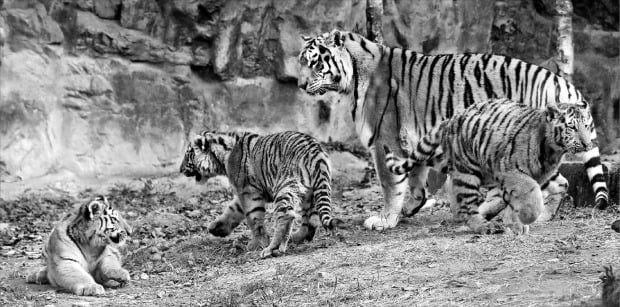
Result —
POLYGON ((387 145, 383 145, 388 170, 396 175, 403 175, 418 165, 435 166, 443 161, 444 155, 438 152, 440 151, 438 148, 441 145, 444 126, 441 125, 425 135, 407 158, 396 157, 387 145))

